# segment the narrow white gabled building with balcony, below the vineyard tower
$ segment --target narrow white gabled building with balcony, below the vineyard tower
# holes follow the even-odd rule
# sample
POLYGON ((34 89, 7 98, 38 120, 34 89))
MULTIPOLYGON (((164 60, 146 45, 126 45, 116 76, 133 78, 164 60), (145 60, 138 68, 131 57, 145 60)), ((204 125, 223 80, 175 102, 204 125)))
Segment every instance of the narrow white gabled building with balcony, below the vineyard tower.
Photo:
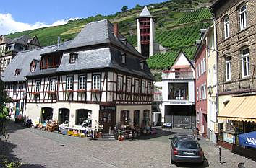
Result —
POLYGON ((195 69, 180 52, 170 70, 162 73, 162 123, 175 128, 195 127, 195 69))

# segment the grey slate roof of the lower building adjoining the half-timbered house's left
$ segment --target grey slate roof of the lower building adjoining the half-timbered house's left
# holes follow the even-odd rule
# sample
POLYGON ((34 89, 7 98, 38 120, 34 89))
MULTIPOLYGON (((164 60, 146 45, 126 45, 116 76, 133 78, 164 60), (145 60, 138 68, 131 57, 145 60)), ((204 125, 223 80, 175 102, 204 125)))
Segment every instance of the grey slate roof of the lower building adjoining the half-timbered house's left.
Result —
POLYGON ((48 53, 51 50, 56 49, 56 45, 48 46, 45 48, 38 48, 35 50, 26 50, 17 53, 11 63, 4 70, 1 79, 5 82, 12 81, 25 81, 25 76, 30 73, 30 63, 33 59, 40 60, 40 54, 48 53), (15 76, 15 70, 21 69, 20 75, 15 76))

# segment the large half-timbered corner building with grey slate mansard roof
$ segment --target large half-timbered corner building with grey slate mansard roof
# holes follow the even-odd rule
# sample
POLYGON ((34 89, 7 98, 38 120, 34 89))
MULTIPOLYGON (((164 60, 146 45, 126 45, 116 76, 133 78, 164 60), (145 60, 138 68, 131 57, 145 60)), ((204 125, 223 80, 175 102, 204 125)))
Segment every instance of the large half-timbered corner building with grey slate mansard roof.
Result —
POLYGON ((31 55, 24 65, 25 114, 33 122, 82 125, 91 120, 93 128, 103 125, 103 132, 116 123, 151 125, 153 76, 118 25, 89 23, 74 40, 31 55))

